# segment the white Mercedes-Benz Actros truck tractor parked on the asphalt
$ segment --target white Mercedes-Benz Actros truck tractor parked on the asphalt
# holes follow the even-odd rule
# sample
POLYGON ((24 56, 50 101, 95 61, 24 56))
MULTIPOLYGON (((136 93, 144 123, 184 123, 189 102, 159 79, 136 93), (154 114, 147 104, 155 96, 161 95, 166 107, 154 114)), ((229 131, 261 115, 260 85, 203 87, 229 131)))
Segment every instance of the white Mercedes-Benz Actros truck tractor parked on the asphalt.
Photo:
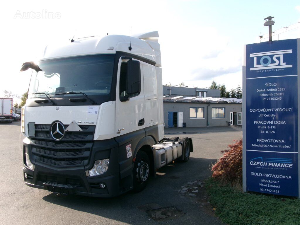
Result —
POLYGON ((149 176, 188 161, 190 138, 164 137, 158 32, 48 45, 22 107, 25 184, 113 197, 141 191, 149 176))

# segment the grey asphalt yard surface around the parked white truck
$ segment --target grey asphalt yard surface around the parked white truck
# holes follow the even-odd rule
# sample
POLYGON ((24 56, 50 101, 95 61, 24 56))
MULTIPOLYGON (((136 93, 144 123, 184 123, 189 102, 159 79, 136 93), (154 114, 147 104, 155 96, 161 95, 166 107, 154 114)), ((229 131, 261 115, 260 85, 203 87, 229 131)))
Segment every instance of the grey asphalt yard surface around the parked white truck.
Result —
POLYGON ((159 169, 140 193, 101 199, 26 186, 20 122, 0 123, 0 224, 223 224, 214 216, 203 182, 220 151, 241 138, 241 127, 168 128, 165 136, 193 138, 187 163, 159 169))

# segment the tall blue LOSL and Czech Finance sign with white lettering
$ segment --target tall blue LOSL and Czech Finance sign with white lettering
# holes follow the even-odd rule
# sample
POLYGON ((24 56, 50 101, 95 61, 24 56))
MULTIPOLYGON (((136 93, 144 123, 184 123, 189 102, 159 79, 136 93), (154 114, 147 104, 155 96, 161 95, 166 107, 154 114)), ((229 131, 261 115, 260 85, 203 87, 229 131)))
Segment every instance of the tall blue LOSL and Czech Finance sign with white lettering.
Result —
POLYGON ((246 190, 298 196, 297 39, 246 45, 246 190))

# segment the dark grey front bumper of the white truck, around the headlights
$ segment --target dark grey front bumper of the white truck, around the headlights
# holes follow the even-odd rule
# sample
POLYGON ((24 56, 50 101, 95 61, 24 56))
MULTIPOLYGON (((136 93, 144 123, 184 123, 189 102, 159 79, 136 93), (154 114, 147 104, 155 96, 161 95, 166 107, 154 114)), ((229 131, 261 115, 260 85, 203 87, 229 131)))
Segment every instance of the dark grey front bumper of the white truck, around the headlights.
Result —
MULTIPOLYGON (((44 184, 51 182, 55 184, 76 186, 74 194, 93 197, 114 197, 132 189, 132 159, 119 164, 118 147, 114 140, 95 141, 91 149, 89 163, 81 167, 53 167, 51 165, 43 164, 35 160, 31 148, 32 142, 23 142, 24 152, 28 152, 30 160, 34 162, 34 170, 30 170, 26 166, 24 159, 23 178, 24 182, 29 187, 45 189, 44 184), (109 158, 110 165, 108 170, 97 176, 87 176, 86 171, 90 170, 95 160, 109 158), (127 176, 122 175, 120 178, 120 169, 127 165, 127 176), (26 173, 26 176, 25 176, 26 173), (27 178, 26 178, 27 177, 27 178), (99 184, 104 183, 105 188, 100 188, 99 184)), ((73 191, 72 191, 73 192, 73 191)))

